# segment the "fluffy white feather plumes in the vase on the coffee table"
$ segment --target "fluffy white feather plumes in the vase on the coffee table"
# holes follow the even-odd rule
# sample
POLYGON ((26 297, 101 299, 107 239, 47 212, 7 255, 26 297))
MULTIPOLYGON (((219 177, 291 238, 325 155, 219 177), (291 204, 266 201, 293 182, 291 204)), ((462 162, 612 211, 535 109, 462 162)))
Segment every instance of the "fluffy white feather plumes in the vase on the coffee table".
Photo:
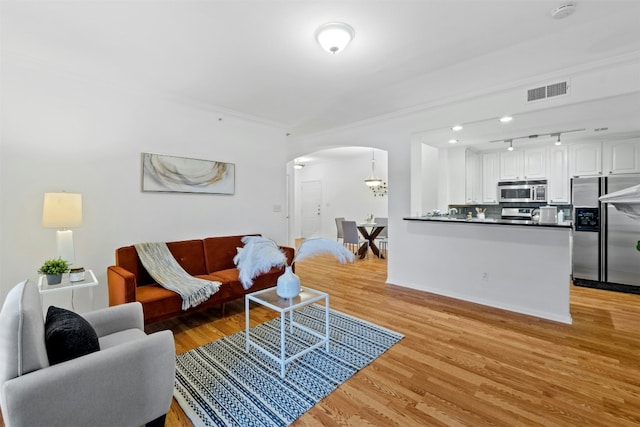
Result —
MULTIPOLYGON (((240 283, 245 289, 253 285, 253 279, 261 273, 266 273, 272 267, 284 267, 287 257, 273 240, 262 236, 244 236, 244 247, 237 248, 238 253, 233 262, 240 270, 240 283)), ((302 261, 322 253, 331 254, 342 264, 353 262, 355 257, 351 251, 341 243, 331 239, 306 239, 298 247, 298 252, 291 264, 302 261)))

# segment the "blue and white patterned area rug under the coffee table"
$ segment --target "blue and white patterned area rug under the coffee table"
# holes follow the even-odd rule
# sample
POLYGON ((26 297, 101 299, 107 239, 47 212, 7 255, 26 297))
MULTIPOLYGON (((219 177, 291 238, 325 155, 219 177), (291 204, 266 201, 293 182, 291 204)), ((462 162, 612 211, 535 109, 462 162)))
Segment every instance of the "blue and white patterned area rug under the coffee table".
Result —
MULTIPOLYGON (((335 310, 329 319, 329 354, 321 346, 290 362, 285 378, 272 359, 254 348, 245 352, 244 331, 180 354, 173 395, 196 426, 289 425, 403 338, 335 310)), ((324 307, 307 306, 294 321, 324 333, 324 307)), ((251 339, 277 352, 280 319, 251 328, 251 339)), ((294 328, 287 353, 314 339, 294 328)))

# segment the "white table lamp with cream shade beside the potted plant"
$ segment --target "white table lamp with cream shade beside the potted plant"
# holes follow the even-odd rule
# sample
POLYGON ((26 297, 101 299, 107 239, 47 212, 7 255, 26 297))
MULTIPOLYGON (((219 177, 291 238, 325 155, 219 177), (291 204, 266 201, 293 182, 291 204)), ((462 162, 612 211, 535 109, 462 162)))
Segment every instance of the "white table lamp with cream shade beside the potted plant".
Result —
POLYGON ((42 207, 42 226, 57 228, 56 241, 58 257, 75 264, 72 227, 82 225, 82 194, 80 193, 44 193, 42 207))

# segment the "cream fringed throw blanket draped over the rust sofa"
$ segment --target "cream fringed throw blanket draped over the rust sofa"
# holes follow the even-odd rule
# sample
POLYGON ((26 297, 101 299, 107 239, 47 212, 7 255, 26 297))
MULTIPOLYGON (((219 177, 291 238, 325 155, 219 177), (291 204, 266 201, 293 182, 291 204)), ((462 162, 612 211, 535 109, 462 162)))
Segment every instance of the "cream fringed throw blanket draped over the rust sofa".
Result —
POLYGON ((220 289, 220 282, 198 279, 184 271, 166 243, 138 243, 134 246, 151 277, 163 288, 182 297, 183 310, 203 303, 220 289))

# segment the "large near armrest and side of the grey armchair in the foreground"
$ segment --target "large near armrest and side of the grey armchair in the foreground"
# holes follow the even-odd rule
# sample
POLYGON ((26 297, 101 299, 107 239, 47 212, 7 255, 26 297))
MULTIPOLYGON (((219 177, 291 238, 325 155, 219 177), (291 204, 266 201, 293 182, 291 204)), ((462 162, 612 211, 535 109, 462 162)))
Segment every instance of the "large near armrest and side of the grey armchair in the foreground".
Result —
POLYGON ((140 426, 167 413, 173 334, 161 331, 2 384, 9 426, 140 426))

